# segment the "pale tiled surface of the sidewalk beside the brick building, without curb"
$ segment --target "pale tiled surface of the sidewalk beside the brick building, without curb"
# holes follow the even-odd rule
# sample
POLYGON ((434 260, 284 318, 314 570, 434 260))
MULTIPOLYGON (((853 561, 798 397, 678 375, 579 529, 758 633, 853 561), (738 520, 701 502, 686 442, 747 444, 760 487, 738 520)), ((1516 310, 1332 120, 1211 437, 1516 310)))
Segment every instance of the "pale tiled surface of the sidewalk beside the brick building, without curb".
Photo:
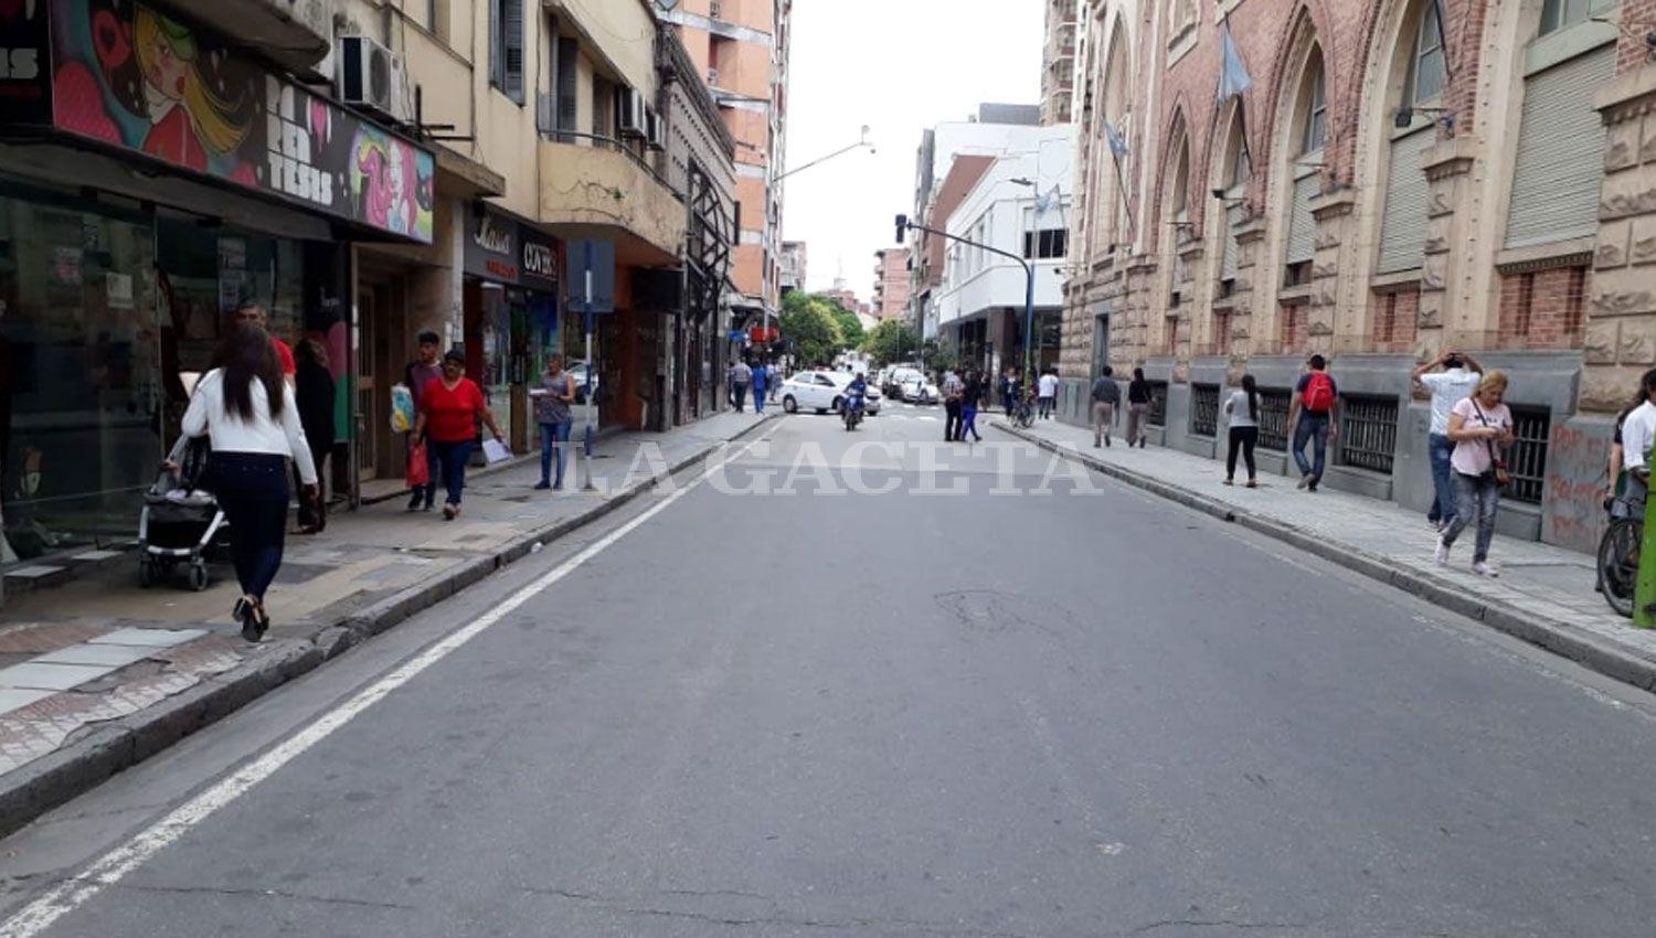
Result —
POLYGON ((1004 422, 997 422, 997 427, 1073 448, 1078 457, 1098 462, 1106 471, 1113 468, 1149 485, 1172 486, 1207 505, 1257 519, 1257 526, 1267 531, 1303 534, 1335 548, 1331 554, 1343 551, 1353 559, 1366 561, 1365 572, 1378 572, 1370 566, 1396 571, 1394 579, 1406 579, 1408 582, 1399 582, 1406 589, 1413 589, 1409 584, 1434 584, 1442 592, 1457 594, 1451 599, 1464 601, 1459 605, 1512 610, 1533 622, 1578 630, 1653 662, 1651 673, 1656 673, 1656 630, 1634 629, 1605 604, 1593 589, 1595 567, 1588 554, 1497 536, 1490 559, 1502 576, 1482 577, 1469 569, 1471 531, 1456 544, 1451 566, 1439 567, 1432 561, 1437 538, 1426 518, 1389 501, 1328 488, 1300 491, 1295 488, 1297 480, 1280 475, 1260 475, 1260 488, 1227 486, 1222 462, 1163 447, 1128 448, 1119 438, 1114 447, 1093 448, 1091 430, 1057 420, 1042 420, 1032 430, 1013 430, 1004 422))

